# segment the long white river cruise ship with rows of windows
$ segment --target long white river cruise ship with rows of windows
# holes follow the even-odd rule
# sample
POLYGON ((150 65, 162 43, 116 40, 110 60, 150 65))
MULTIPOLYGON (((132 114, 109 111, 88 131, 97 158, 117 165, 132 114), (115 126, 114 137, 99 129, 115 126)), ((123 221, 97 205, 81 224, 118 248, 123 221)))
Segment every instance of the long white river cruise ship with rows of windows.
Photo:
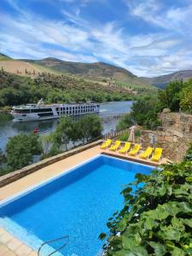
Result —
POLYGON ((31 121, 43 119, 57 119, 63 115, 82 115, 87 113, 99 113, 98 103, 70 103, 45 105, 43 99, 38 104, 27 104, 13 107, 11 115, 14 121, 31 121))

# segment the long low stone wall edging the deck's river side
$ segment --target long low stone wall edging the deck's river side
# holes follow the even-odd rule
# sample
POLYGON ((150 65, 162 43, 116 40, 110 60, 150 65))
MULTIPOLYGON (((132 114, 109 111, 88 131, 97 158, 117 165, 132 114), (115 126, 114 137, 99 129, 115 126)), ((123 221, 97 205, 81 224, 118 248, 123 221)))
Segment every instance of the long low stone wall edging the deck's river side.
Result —
POLYGON ((99 145, 101 143, 102 143, 102 140, 98 140, 94 143, 89 143, 84 146, 74 148, 74 149, 64 152, 62 154, 57 154, 57 155, 49 157, 47 159, 38 161, 38 163, 35 163, 30 166, 26 166, 18 171, 10 172, 9 174, 3 175, 2 177, 0 177, 0 188, 9 183, 14 182, 15 180, 19 179, 20 177, 25 177, 26 175, 28 175, 32 172, 36 172, 39 169, 44 168, 45 166, 49 166, 51 164, 54 164, 55 162, 66 159, 67 157, 72 156, 73 154, 79 154, 80 152, 82 152, 86 149, 89 149, 89 148, 96 147, 97 145, 99 145))

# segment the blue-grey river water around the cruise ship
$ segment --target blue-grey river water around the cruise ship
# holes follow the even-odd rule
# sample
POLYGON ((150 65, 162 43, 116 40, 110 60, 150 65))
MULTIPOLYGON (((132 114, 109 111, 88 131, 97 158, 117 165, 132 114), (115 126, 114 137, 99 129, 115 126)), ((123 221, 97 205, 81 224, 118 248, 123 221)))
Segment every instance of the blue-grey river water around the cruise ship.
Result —
MULTIPOLYGON (((118 119, 113 119, 111 116, 119 113, 130 112, 132 102, 108 102, 100 104, 99 115, 102 118, 103 131, 107 133, 111 129, 115 129, 118 119), (110 118, 109 118, 110 117, 110 118)), ((13 122, 9 113, 0 113, 0 148, 4 151, 9 137, 14 137, 20 133, 31 133, 35 128, 38 128, 40 134, 49 134, 55 130, 58 119, 49 119, 31 122, 13 122)))

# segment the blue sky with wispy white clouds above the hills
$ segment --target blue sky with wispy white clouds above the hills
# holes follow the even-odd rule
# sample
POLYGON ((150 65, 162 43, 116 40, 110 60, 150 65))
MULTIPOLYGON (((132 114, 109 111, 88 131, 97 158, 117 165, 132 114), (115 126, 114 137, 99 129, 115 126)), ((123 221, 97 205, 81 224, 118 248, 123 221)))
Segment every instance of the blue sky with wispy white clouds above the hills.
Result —
POLYGON ((0 0, 0 52, 148 77, 192 69, 192 0, 0 0))

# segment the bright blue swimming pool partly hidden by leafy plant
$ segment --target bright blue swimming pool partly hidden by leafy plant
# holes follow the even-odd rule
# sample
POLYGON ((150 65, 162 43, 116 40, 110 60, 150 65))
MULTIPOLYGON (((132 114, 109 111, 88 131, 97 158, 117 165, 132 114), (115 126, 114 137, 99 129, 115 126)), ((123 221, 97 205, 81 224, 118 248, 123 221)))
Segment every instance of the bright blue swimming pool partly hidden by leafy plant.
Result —
MULTIPOLYGON (((98 155, 0 205, 0 224, 35 250, 44 242, 69 236, 62 255, 94 256, 102 250, 98 236, 122 208, 123 185, 152 166, 98 155)), ((59 244, 60 246, 61 244, 59 244)), ((58 247, 58 243, 52 244, 58 247)), ((45 247, 46 253, 52 252, 45 247)), ((59 255, 60 253, 57 253, 59 255)), ((56 255, 56 254, 55 254, 56 255)), ((60 254, 61 255, 61 254, 60 254)))

